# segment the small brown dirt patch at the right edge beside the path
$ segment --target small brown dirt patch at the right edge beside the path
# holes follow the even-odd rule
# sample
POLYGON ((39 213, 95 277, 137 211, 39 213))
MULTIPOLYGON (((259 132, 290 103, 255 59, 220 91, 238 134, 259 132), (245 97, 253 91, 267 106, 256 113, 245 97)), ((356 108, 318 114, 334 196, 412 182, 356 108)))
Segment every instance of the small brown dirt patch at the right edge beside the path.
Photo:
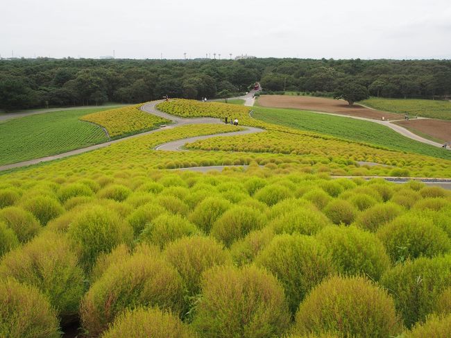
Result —
POLYGON ((412 133, 418 131, 430 135, 441 142, 451 141, 451 121, 439 119, 410 119, 408 121, 397 121, 395 123, 411 130, 412 133))

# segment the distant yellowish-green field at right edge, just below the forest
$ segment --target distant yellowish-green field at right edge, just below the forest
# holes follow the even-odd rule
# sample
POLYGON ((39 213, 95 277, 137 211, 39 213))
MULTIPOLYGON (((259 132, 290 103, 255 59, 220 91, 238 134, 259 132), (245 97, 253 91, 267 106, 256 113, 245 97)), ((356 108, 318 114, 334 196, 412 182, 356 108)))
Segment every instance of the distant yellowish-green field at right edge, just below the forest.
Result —
POLYGON ((411 117, 431 117, 432 119, 451 120, 451 102, 422 99, 371 99, 360 101, 368 107, 385 112, 397 112, 399 114, 409 114, 411 117))

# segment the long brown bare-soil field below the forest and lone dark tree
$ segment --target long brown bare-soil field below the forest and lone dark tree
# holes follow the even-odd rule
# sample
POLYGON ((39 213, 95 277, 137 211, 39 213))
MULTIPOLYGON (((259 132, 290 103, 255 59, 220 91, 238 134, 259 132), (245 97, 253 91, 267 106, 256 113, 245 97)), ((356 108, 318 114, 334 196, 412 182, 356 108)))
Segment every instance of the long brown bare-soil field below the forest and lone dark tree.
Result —
POLYGON ((314 96, 263 95, 259 97, 257 102, 262 107, 296 108, 315 112, 366 117, 367 119, 381 120, 382 117, 385 117, 385 119, 395 120, 403 118, 402 115, 392 112, 381 112, 380 110, 365 108, 361 105, 350 107, 346 101, 314 96))

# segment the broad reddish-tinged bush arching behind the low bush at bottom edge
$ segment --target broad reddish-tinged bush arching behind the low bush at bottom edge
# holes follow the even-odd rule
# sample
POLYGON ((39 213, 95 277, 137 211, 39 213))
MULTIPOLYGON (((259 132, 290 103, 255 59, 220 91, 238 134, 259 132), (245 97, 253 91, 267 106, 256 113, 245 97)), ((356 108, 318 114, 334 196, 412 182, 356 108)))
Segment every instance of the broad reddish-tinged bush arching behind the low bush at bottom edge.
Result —
POLYGON ((96 337, 126 308, 158 306, 180 314, 184 285, 174 267, 159 257, 137 252, 113 263, 92 284, 80 305, 83 328, 96 337))

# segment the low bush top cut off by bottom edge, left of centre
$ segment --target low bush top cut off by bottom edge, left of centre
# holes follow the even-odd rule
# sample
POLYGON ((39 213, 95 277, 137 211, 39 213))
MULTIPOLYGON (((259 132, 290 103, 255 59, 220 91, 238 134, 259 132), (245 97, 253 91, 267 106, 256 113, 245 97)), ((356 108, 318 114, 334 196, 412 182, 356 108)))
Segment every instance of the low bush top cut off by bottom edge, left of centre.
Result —
POLYGON ((171 312, 137 307, 119 314, 101 338, 194 338, 194 332, 171 312))

